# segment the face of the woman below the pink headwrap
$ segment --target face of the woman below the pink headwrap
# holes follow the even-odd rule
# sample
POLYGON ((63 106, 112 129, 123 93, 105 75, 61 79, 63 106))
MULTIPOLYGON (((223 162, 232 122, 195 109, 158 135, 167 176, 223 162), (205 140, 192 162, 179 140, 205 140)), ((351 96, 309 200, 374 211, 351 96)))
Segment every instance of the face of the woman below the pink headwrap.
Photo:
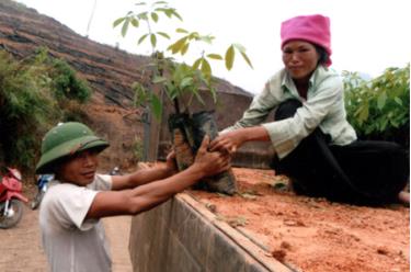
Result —
POLYGON ((283 46, 283 63, 296 80, 308 80, 317 67, 319 57, 316 47, 304 41, 289 41, 283 46))

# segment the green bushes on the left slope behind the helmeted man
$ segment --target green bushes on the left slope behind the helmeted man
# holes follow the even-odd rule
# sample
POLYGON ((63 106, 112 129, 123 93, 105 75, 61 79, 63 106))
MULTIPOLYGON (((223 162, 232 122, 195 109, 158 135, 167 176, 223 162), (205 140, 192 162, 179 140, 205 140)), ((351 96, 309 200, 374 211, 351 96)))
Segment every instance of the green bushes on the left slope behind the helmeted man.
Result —
POLYGON ((72 101, 90 95, 78 87, 84 82, 78 84, 72 70, 56 68, 56 61, 45 48, 22 60, 0 50, 0 154, 8 165, 33 169, 45 132, 66 121, 76 107, 72 101), (66 84, 66 92, 56 95, 58 77, 65 75, 75 79, 66 84))

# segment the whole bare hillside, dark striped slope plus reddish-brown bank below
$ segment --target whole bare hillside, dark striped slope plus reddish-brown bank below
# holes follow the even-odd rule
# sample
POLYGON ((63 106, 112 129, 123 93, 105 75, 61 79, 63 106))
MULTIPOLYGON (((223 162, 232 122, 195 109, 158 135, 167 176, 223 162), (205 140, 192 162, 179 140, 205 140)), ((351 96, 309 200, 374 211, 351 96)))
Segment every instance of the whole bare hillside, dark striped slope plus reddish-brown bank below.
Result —
MULTIPOLYGON (((149 58, 99 44, 24 4, 0 0, 0 49, 24 58, 39 46, 46 46, 50 55, 69 63, 93 89, 84 111, 89 125, 112 143, 111 151, 105 152, 107 167, 135 163, 130 150, 142 139, 142 125, 132 106, 130 86, 147 80, 142 69, 149 58)), ((224 80, 217 86, 220 93, 246 99, 235 114, 228 114, 230 118, 227 113, 218 117, 217 122, 225 120, 228 124, 239 117, 251 95, 224 80)), ((229 101, 236 105, 236 101, 229 101)))

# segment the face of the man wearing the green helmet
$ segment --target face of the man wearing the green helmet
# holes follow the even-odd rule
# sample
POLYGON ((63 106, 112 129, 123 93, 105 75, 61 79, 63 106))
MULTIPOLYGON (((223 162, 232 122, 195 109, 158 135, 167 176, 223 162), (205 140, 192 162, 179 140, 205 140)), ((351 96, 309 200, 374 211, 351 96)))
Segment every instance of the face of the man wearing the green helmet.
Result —
POLYGON ((98 151, 88 149, 70 156, 58 169, 58 179, 84 186, 94 180, 99 166, 98 151))

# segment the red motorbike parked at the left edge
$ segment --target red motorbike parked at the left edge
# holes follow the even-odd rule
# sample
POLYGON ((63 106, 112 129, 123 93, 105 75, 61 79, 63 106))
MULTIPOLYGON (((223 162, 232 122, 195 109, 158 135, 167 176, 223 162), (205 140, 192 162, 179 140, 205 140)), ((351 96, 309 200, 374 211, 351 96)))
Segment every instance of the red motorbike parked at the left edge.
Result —
POLYGON ((5 168, 0 183, 0 228, 15 226, 23 216, 23 202, 28 200, 22 194, 22 174, 18 169, 5 168))

